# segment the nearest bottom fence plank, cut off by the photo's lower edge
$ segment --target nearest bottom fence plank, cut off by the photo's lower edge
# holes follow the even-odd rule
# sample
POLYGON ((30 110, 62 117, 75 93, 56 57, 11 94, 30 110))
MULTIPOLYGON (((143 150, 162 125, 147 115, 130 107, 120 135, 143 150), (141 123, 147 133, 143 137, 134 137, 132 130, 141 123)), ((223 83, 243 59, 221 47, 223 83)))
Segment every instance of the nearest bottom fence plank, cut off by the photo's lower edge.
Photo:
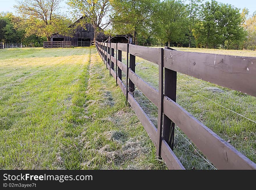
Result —
POLYGON ((185 169, 164 139, 161 141, 161 157, 165 161, 168 169, 185 169))

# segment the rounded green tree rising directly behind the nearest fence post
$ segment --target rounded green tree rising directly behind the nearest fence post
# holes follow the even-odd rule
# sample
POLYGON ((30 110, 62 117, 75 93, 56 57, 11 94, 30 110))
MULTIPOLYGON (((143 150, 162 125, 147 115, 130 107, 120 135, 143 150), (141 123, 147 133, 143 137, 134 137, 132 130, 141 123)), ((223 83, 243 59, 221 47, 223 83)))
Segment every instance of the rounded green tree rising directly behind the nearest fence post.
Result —
POLYGON ((160 41, 181 42, 188 30, 188 11, 181 1, 166 0, 154 15, 154 34, 160 41))

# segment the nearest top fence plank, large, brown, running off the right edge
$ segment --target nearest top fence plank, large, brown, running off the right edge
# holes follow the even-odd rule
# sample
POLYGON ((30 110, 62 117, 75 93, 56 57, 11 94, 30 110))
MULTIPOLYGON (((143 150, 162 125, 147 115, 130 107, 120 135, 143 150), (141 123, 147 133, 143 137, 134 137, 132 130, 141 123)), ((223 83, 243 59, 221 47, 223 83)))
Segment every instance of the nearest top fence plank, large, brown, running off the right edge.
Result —
POLYGON ((164 50, 164 67, 256 96, 256 57, 164 50))

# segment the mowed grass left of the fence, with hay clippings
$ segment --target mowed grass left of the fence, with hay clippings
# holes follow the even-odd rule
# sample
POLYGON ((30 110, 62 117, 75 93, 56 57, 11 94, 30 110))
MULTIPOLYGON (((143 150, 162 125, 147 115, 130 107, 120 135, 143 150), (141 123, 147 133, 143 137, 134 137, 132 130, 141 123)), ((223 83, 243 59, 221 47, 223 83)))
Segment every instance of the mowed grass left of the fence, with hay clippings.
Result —
POLYGON ((0 169, 166 169, 95 48, 0 50, 0 169))

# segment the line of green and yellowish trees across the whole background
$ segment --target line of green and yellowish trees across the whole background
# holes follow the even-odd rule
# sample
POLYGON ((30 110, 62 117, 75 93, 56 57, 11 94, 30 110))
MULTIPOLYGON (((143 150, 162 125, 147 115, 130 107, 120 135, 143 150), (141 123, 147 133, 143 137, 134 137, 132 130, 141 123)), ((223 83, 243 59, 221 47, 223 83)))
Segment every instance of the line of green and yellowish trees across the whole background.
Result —
POLYGON ((41 46, 53 33, 74 34, 75 18, 83 16, 97 34, 132 34, 134 43, 221 49, 256 48, 256 11, 215 0, 68 0, 70 15, 61 14, 63 0, 22 0, 20 16, 0 14, 0 41, 41 46), (241 12, 240 12, 241 11, 241 12))

